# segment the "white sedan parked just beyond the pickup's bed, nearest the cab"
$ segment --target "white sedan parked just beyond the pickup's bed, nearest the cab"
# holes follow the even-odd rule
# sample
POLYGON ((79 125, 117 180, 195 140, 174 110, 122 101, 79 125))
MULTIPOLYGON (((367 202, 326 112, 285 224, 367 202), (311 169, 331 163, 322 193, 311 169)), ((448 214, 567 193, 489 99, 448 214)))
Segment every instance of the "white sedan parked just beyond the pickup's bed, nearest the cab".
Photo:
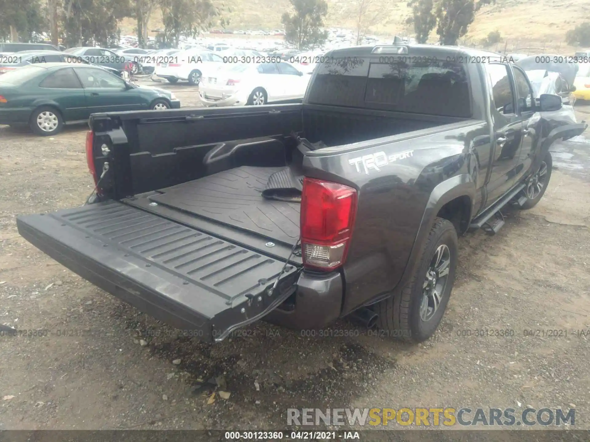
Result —
POLYGON ((199 95, 204 106, 240 106, 303 99, 311 75, 290 63, 241 63, 203 78, 199 95))

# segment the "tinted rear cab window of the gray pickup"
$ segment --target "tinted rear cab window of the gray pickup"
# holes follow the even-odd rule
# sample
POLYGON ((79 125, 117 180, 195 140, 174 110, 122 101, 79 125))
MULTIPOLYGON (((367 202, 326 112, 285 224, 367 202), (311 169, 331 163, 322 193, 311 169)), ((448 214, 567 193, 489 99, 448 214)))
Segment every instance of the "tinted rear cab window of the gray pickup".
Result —
POLYGON ((405 54, 325 58, 310 104, 471 117, 465 64, 405 54))

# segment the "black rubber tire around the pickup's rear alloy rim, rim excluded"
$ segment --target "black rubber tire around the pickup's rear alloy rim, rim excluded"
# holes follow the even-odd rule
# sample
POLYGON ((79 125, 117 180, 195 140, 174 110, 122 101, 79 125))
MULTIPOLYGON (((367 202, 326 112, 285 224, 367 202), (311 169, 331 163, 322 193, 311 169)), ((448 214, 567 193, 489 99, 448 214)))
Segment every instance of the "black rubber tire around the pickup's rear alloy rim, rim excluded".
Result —
MULTIPOLYGON (((400 292, 375 305, 375 312, 379 315, 377 326, 389 336, 407 342, 422 342, 434 335, 442 315, 447 309, 448 300, 453 290, 457 255, 457 231, 453 223, 446 219, 436 218, 422 251, 417 270, 407 285, 400 292), (442 295, 438 308, 433 309, 432 316, 427 321, 423 321, 421 305, 426 290, 424 285, 427 281, 427 273, 433 259, 435 259, 435 253, 442 246, 447 246, 449 252, 447 279, 441 288, 442 295)), ((438 278, 442 278, 442 276, 438 278)))

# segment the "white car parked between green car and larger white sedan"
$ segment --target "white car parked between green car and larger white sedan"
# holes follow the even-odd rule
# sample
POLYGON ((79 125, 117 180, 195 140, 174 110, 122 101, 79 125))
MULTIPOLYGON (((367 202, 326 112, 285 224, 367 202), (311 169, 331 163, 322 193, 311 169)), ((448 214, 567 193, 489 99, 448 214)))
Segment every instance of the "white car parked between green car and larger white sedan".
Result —
POLYGON ((170 83, 178 80, 189 84, 199 84, 201 77, 210 76, 223 65, 219 55, 204 48, 192 48, 173 55, 173 62, 162 62, 156 65, 155 73, 170 83))

